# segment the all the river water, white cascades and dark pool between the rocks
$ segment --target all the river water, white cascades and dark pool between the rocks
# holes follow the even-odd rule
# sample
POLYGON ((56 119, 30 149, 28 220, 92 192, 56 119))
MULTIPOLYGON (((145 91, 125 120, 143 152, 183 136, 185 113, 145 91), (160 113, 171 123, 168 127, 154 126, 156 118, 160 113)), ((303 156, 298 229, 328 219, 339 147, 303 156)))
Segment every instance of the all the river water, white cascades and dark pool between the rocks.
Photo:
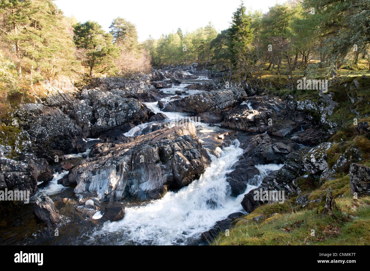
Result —
MULTIPOLYGON (((206 77, 199 77, 198 80, 206 80, 206 77)), ((188 90, 185 87, 189 84, 173 86, 163 89, 164 92, 173 96, 162 99, 164 102, 174 99, 175 91, 186 91, 182 97, 203 91, 188 90)), ((149 109, 154 113, 163 113, 167 116, 164 120, 166 126, 174 126, 174 121, 178 118, 188 117, 189 114, 179 112, 163 112, 158 108, 158 102, 145 102, 149 109)), ((251 108, 250 103, 248 107, 251 108)), ((155 122, 142 123, 135 126, 125 133, 125 136, 138 136, 149 125, 155 122)), ((200 122, 197 124, 198 138, 201 142, 213 140, 215 134, 226 130, 219 125, 200 122)), ((92 140, 88 139, 90 143, 92 140)), ((43 224, 33 219, 31 204, 27 208, 16 206, 14 210, 19 210, 17 214, 6 214, 6 226, 0 228, 3 240, 7 244, 196 244, 200 240, 203 231, 213 227, 216 221, 225 219, 229 214, 236 211, 243 211, 240 202, 244 194, 257 187, 248 185, 245 193, 238 197, 231 196, 231 188, 226 181, 227 173, 232 171, 233 164, 238 161, 243 150, 239 148, 239 141, 234 140, 231 146, 220 149, 216 148, 211 155, 211 165, 205 170, 198 180, 178 191, 170 191, 158 200, 147 201, 144 203, 127 203, 125 216, 117 222, 106 222, 104 224, 91 223, 90 219, 76 214, 71 210, 61 211, 61 222, 58 225, 60 237, 53 239, 39 238, 37 229, 42 229, 43 224), (16 215, 14 221, 11 217, 16 215), (21 221, 21 222, 19 222, 21 221), (31 223, 28 223, 31 221, 31 223), (24 227, 23 225, 27 225, 24 227), (12 228, 13 230, 7 230, 12 228), (26 238, 24 237, 26 236, 26 238)), ((65 159, 83 159, 88 157, 90 148, 84 153, 65 155, 65 159)), ((271 171, 277 170, 282 165, 256 165, 259 175, 256 176, 257 184, 260 185, 262 179, 271 171)), ((39 183, 40 188, 37 194, 31 197, 36 200, 40 194, 46 194, 53 200, 73 197, 73 188, 64 187, 58 184, 58 180, 68 174, 68 171, 55 173, 53 179, 47 184, 39 183)), ((93 216, 94 220, 102 216, 100 211, 93 216)), ((1 240, 1 238, 0 238, 1 240)))

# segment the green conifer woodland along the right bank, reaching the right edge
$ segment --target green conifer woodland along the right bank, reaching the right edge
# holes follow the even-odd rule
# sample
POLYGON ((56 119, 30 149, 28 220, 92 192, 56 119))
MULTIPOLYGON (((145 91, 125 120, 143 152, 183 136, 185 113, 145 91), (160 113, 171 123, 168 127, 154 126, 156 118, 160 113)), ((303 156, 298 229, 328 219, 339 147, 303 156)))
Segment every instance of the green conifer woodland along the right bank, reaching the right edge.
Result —
POLYGON ((159 40, 149 38, 144 46, 154 65, 212 60, 240 84, 247 79, 258 83, 266 62, 279 80, 284 62, 294 85, 292 71, 297 67, 305 76, 314 77, 321 69, 320 74, 335 78, 344 65, 369 60, 369 8, 368 0, 293 0, 263 14, 247 12, 242 3, 231 26, 217 35, 210 23, 184 36, 179 29, 159 40))

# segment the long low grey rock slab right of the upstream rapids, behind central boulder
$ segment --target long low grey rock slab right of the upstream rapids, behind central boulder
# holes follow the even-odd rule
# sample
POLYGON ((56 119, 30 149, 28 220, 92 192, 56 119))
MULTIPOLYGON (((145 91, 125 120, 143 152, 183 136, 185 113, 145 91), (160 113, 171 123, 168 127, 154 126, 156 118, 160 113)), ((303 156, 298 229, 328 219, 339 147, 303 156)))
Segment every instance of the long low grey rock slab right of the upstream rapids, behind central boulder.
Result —
POLYGON ((246 99, 246 93, 242 88, 209 91, 171 101, 165 105, 163 110, 166 112, 186 112, 193 114, 208 111, 219 112, 233 108, 244 99, 246 99))

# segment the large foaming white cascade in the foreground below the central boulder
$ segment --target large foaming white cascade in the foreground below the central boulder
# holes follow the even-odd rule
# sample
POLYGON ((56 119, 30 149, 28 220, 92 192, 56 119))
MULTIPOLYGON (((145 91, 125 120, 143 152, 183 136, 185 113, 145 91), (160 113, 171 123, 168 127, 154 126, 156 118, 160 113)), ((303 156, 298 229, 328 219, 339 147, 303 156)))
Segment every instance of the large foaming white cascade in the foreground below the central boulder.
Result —
MULTIPOLYGON (((244 194, 256 186, 248 185, 245 193, 232 197, 226 174, 238 161, 243 150, 239 141, 218 150, 219 157, 211 156, 211 165, 199 180, 176 192, 168 192, 162 199, 143 206, 127 207, 125 216, 117 222, 106 222, 91 234, 87 244, 146 244, 174 245, 188 244, 199 240, 203 231, 209 230, 216 221, 228 214, 243 211, 240 202, 244 194)), ((271 170, 282 165, 263 165, 259 183, 271 170)))

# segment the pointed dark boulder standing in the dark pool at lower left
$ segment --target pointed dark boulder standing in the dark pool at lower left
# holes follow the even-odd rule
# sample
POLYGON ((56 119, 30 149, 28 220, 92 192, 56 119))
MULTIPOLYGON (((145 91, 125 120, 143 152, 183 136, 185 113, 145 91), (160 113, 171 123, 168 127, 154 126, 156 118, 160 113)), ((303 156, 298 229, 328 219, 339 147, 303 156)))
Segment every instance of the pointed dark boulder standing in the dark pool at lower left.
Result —
POLYGON ((48 196, 43 195, 36 199, 33 213, 48 227, 56 227, 59 222, 59 211, 48 196))

